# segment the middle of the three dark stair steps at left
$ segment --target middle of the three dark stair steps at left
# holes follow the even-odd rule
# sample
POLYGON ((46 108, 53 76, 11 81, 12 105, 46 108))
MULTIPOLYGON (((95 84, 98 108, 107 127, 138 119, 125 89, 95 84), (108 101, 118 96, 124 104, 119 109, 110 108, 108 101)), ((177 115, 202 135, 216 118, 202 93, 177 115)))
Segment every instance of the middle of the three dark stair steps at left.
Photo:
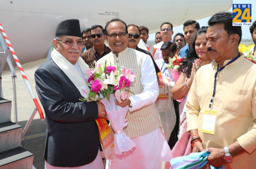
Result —
POLYGON ((0 123, 0 153, 21 144, 22 127, 12 122, 0 123))

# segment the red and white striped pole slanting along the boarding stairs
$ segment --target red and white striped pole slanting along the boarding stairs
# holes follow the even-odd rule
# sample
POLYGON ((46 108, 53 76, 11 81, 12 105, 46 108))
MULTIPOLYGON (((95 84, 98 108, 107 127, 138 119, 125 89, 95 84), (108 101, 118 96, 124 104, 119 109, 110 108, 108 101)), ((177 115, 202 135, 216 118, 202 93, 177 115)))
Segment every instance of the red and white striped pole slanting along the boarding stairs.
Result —
POLYGON ((11 42, 9 41, 9 39, 8 39, 8 37, 7 37, 7 35, 6 35, 6 33, 5 33, 5 31, 4 31, 4 28, 3 28, 2 24, 1 24, 1 22, 0 22, 0 30, 1 30, 1 32, 2 32, 2 34, 3 34, 3 36, 4 36, 4 39, 5 39, 6 44, 9 46, 10 51, 12 52, 12 56, 13 56, 13 58, 14 58, 16 64, 17 64, 17 66, 18 66, 18 68, 19 68, 19 70, 20 70, 20 73, 21 73, 21 75, 22 75, 22 77, 23 77, 23 80, 25 81, 25 83, 26 83, 26 85, 27 85, 28 91, 29 91, 29 93, 30 93, 30 95, 31 95, 31 97, 32 97, 32 99, 33 99, 35 105, 36 105, 36 109, 38 110, 38 113, 39 113, 39 115, 40 115, 40 119, 41 119, 41 121, 44 121, 44 114, 43 114, 43 111, 42 111, 42 109, 41 109, 41 107, 40 107, 40 105, 39 105, 39 103, 38 103, 38 101, 37 101, 37 99, 36 99, 36 96, 35 96, 35 94, 34 94, 32 88, 31 88, 31 86, 30 86, 30 84, 29 84, 29 82, 28 82, 28 78, 27 78, 26 74, 24 73, 23 68, 21 67, 20 61, 19 61, 18 57, 16 56, 16 53, 14 52, 14 50, 13 50, 13 48, 12 48, 11 42))

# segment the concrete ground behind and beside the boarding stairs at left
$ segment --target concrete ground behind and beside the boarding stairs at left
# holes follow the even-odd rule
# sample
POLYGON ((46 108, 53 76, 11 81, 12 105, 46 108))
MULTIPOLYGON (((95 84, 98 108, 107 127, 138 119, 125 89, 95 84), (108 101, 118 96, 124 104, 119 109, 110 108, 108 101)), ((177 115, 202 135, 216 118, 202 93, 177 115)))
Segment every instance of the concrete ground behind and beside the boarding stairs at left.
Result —
MULTIPOLYGON (((34 73, 38 66, 43 63, 45 60, 39 60, 34 63, 34 66, 23 67, 25 70, 25 74, 28 78, 28 81, 38 99, 36 88, 35 88, 35 79, 34 73)), ((19 71, 16 71, 17 79, 16 79, 16 92, 17 92, 17 112, 18 112, 18 124, 22 126, 24 129, 31 113, 35 108, 35 104, 30 96, 28 89, 25 85, 24 80, 19 71)), ((3 95, 4 98, 7 100, 12 101, 12 115, 11 120, 15 122, 15 115, 14 115, 14 103, 13 103, 13 82, 12 82, 12 74, 10 72, 4 72, 2 75, 2 88, 3 88, 3 95)), ((40 101, 38 100, 41 108, 43 109, 40 101)), ((44 110, 43 110, 44 112, 44 110)), ((34 117, 24 140, 21 142, 21 146, 26 150, 30 151, 34 154, 34 161, 33 165, 36 169, 44 169, 44 162, 43 154, 44 154, 44 143, 45 143, 45 129, 46 129, 46 122, 45 120, 42 122, 40 120, 38 112, 34 117)), ((163 163, 164 164, 164 163, 163 163)), ((162 166, 162 169, 164 167, 162 166)))

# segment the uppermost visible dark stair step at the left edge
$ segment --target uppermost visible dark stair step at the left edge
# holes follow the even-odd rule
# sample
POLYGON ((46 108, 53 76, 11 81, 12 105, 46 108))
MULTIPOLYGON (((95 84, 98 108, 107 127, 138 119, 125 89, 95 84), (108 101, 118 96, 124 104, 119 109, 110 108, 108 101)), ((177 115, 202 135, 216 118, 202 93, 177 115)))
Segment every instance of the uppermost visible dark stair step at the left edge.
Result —
POLYGON ((11 121, 12 101, 0 98, 0 123, 11 121))

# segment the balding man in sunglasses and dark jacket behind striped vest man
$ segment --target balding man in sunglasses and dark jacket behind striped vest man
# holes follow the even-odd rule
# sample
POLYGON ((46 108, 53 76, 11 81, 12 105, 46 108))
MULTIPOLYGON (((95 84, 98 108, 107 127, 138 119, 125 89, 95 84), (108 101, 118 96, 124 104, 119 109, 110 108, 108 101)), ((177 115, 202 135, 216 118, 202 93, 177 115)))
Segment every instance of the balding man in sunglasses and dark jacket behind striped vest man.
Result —
POLYGON ((138 44, 139 44, 140 38, 141 38, 140 37, 140 29, 139 29, 139 27, 137 25, 130 24, 130 25, 127 25, 127 29, 128 29, 128 35, 129 35, 128 47, 132 48, 132 49, 135 49, 137 51, 140 51, 142 53, 148 54, 151 57, 151 59, 152 59, 152 61, 154 63, 155 70, 156 70, 157 82, 159 83, 158 72, 160 72, 160 70, 157 67, 156 62, 153 59, 151 53, 149 53, 148 51, 143 50, 143 49, 138 47, 138 44))

